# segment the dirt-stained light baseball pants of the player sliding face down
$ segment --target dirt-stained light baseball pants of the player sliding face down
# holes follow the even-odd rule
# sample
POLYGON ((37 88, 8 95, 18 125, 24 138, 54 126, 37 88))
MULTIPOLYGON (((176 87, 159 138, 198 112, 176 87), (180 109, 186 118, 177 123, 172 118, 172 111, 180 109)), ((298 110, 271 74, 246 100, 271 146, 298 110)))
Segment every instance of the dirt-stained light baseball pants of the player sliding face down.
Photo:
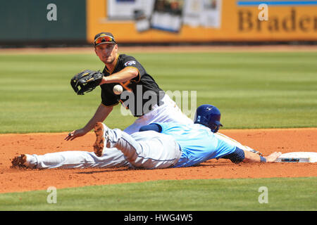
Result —
MULTIPOLYGON (((111 131, 111 148, 101 157, 94 152, 80 150, 27 155, 27 165, 42 169, 84 169, 137 167, 162 169, 175 165, 180 159, 180 146, 173 137, 156 131, 142 131, 129 135, 120 129, 111 131)), ((105 143, 106 144, 106 143, 105 143)))

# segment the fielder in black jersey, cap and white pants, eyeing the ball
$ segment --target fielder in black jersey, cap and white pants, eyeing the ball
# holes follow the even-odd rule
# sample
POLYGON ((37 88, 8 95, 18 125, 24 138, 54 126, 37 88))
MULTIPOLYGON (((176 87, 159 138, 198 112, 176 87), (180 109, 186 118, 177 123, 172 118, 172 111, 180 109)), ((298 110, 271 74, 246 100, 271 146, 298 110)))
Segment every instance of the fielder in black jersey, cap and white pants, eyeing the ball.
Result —
POLYGON ((71 131, 66 140, 73 140, 87 134, 97 122, 104 122, 118 103, 128 108, 137 120, 124 131, 128 134, 153 122, 192 123, 176 103, 160 89, 153 77, 132 56, 118 54, 118 44, 109 32, 101 32, 94 37, 94 51, 105 64, 101 80, 101 104, 91 120, 82 129, 71 131), (113 93, 113 86, 123 86, 123 93, 113 93))

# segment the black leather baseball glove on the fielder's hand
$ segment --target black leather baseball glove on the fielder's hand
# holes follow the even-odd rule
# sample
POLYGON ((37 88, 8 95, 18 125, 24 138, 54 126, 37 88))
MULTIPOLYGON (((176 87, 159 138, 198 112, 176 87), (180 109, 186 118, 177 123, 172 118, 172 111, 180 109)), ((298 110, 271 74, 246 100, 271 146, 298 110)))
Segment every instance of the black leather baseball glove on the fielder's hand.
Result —
POLYGON ((70 85, 76 94, 83 95, 94 90, 100 84, 102 77, 104 75, 99 70, 83 70, 70 79, 70 85))

